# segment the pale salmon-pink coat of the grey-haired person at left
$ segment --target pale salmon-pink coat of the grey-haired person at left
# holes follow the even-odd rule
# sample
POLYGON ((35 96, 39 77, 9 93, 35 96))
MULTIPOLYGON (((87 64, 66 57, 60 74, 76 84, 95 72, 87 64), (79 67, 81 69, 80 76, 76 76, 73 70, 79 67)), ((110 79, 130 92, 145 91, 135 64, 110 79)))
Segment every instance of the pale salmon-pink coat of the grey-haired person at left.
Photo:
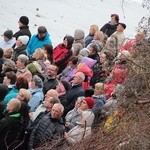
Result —
POLYGON ((16 73, 17 78, 24 77, 28 80, 28 82, 32 79, 32 74, 27 68, 18 69, 16 73))

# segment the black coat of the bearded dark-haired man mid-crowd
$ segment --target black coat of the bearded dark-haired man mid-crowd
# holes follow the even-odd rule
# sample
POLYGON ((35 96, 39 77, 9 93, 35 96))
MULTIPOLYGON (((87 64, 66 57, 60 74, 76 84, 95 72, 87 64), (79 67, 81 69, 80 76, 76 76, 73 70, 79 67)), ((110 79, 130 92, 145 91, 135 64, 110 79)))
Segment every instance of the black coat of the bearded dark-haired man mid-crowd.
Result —
POLYGON ((50 89, 56 89, 56 86, 58 85, 57 78, 49 78, 48 76, 45 77, 45 80, 43 82, 43 93, 44 95, 47 93, 50 89))

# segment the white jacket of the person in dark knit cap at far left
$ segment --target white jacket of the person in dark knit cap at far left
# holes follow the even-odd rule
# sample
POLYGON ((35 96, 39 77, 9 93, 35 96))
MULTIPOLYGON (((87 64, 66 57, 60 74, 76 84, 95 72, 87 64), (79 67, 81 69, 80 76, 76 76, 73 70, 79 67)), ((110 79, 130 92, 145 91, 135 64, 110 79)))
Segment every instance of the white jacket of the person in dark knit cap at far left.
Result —
POLYGON ((16 43, 16 39, 12 37, 9 41, 5 42, 3 39, 0 40, 0 47, 2 49, 12 48, 13 45, 16 43))

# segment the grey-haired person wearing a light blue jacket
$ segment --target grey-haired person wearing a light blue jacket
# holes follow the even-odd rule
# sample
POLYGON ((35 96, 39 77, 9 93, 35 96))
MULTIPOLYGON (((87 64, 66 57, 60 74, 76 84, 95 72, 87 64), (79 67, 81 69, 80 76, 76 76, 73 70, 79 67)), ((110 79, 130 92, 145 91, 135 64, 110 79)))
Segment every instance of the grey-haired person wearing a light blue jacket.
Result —
POLYGON ((40 105, 40 103, 43 101, 44 94, 43 94, 43 81, 42 79, 34 75, 31 83, 30 83, 30 89, 29 91, 32 94, 32 98, 28 102, 28 105, 30 106, 30 112, 33 112, 36 110, 36 108, 40 105))

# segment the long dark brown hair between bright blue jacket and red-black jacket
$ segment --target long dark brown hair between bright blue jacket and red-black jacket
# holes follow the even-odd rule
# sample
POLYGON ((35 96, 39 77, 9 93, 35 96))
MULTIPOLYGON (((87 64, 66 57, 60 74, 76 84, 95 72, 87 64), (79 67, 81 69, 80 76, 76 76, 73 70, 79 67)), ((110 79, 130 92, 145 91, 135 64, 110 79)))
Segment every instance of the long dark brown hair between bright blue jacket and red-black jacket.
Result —
POLYGON ((51 44, 45 44, 44 49, 47 51, 48 60, 53 63, 53 46, 51 44))

